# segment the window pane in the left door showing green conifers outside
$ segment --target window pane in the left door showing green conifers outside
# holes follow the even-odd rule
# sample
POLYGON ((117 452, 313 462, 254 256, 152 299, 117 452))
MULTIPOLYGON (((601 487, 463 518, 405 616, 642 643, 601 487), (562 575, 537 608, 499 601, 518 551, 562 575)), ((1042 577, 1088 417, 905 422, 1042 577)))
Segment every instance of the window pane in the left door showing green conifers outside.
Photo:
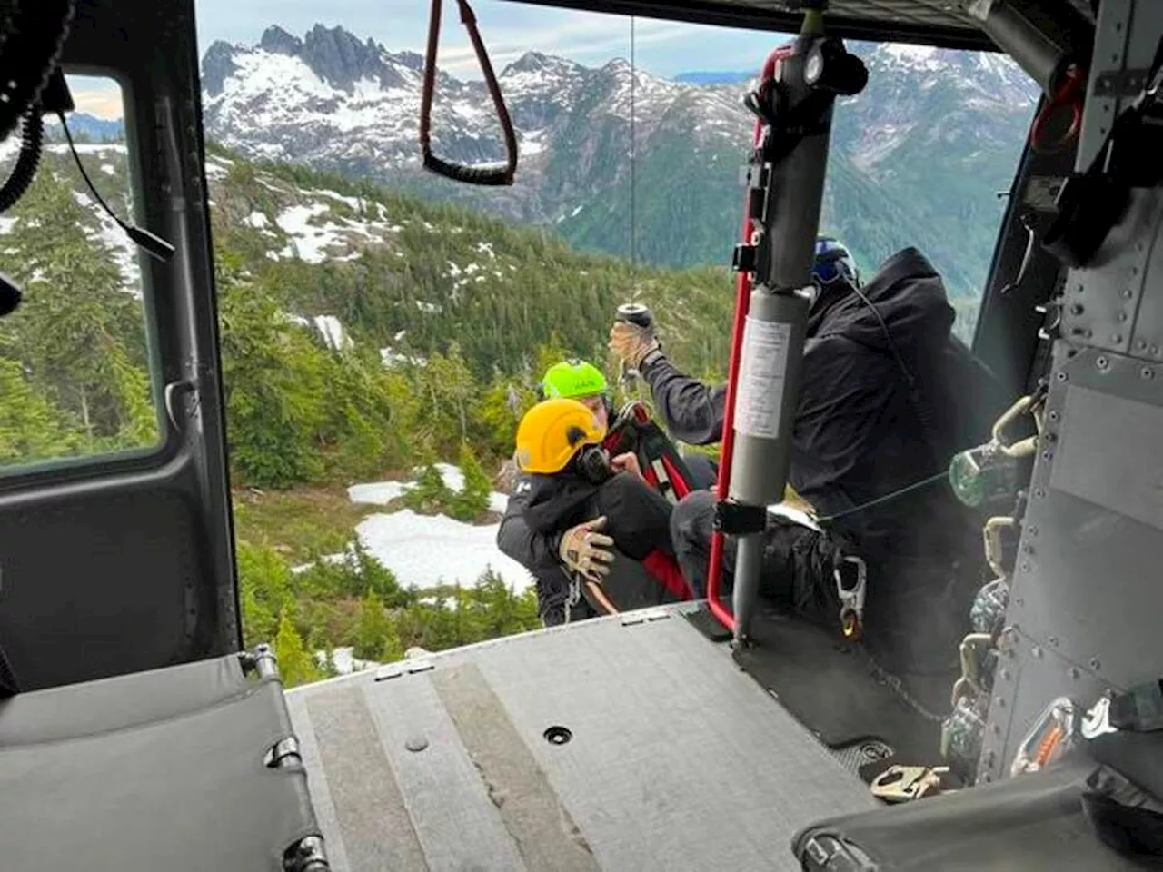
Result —
MULTIPOLYGON (((98 193, 133 214, 123 100, 108 78, 67 77, 77 155, 98 193)), ((95 201, 53 116, 36 178, 0 216, 23 300, 0 319, 0 472, 140 452, 159 443, 157 379, 138 253, 95 201)), ((0 146, 0 178, 21 137, 0 146)))

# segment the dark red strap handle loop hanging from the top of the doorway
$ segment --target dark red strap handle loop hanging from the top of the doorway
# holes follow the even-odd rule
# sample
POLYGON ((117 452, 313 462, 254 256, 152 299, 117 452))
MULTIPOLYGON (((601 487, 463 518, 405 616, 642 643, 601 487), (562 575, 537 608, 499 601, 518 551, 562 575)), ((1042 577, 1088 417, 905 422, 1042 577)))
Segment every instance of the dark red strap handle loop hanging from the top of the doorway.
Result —
POLYGON ((436 50, 440 45, 441 2, 442 0, 433 0, 433 13, 428 21, 428 57, 424 59, 424 88, 420 98, 420 150, 423 153, 424 169, 437 176, 468 185, 512 185, 516 173, 516 134, 513 131, 513 122, 509 119, 508 108, 505 106, 500 85, 497 84, 497 77, 493 74, 493 65, 488 62, 488 52, 485 51, 485 44, 480 41, 477 16, 472 14, 468 0, 456 0, 457 6, 461 7, 461 21, 469 31, 469 40, 472 41, 472 49, 477 52, 480 71, 485 74, 485 87, 488 88, 488 95, 493 99, 493 106, 497 109, 497 120, 501 124, 505 151, 508 158, 504 166, 466 166, 444 160, 433 153, 431 114, 433 98, 436 92, 436 50))

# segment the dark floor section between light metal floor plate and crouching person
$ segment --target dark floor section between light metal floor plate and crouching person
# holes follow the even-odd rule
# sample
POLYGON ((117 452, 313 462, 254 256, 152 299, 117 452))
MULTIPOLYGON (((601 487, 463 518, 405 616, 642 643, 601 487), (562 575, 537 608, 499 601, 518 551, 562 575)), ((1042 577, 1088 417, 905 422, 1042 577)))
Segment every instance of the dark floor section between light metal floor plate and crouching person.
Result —
MULTIPOLYGON (((858 649, 772 610, 756 615, 751 635, 755 644, 735 652, 736 662, 826 745, 865 746, 871 741, 887 745, 901 762, 939 762, 940 723, 908 706, 858 649)), ((928 679, 912 691, 926 708, 941 712, 952 678, 928 679)))

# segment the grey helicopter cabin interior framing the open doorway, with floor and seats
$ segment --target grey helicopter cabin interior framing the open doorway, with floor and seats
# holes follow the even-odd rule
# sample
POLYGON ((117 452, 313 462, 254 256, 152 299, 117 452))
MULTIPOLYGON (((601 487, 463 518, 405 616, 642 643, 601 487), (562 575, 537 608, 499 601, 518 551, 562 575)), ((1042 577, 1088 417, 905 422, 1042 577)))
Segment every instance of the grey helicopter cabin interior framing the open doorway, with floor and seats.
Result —
MULTIPOLYGON (((511 1, 783 34, 799 30, 806 7, 823 6, 511 1)), ((850 650, 775 615, 759 616, 755 644, 734 657, 729 631, 684 606, 284 695, 269 650, 242 650, 194 5, 13 5, 0 17, 9 135, 27 113, 67 112, 67 95, 45 87, 58 63, 113 77, 124 94, 133 212, 122 217, 141 228, 165 415, 155 449, 0 477, 6 858, 21 869, 291 872, 839 872, 1004 869, 1015 858, 1022 869, 1150 867, 1141 850, 1110 846, 1110 828, 1092 837, 1094 806, 1079 795, 1091 795, 1093 766, 1007 775, 1032 735, 1035 745, 1046 738, 1035 727, 1049 717, 1065 732, 1054 719, 1073 709, 1056 700, 1072 701, 1079 721, 1103 699, 1112 708, 1144 700, 1146 713, 1155 698, 1136 688, 1163 674, 1154 642, 1163 503, 1157 474, 1144 474, 1158 466, 1163 429, 1163 213, 1160 179, 1135 169, 1153 153, 1147 91, 1163 9, 1147 0, 968 6, 832 0, 823 14, 844 38, 1000 45, 1035 79, 1065 45, 1086 77, 1076 135, 1025 149, 973 337, 1007 393, 1040 396, 1036 427, 1032 415, 1022 422, 1023 437, 1040 437, 1025 458, 1023 516, 999 549, 1009 598, 989 642, 997 676, 975 694, 980 746, 968 778, 977 786, 884 809, 866 782, 892 763, 932 774, 958 673, 902 694, 850 650), (1026 16, 989 19, 1013 8, 1026 16), (37 88, 40 102, 15 105, 37 88), (1143 106, 1147 122, 1135 127, 1141 119, 1127 113, 1143 106), (1125 162, 1132 170, 1112 164, 1116 135, 1139 158, 1125 162), (1066 186, 1071 178, 1084 183, 1066 186), (1126 207, 1104 219, 1097 203, 1115 195, 1126 207), (1046 244, 1068 209, 1065 242, 1046 244), (564 693, 562 664, 592 681, 564 693), (587 744, 587 730, 599 739, 587 744), (654 746, 662 734, 668 742, 654 746), (37 810, 45 807, 57 810, 37 810)), ((1058 83, 1040 84, 1042 106, 1054 103, 1058 83)), ((1157 720, 1143 714, 1148 726, 1106 732, 1147 743, 1157 720)), ((1142 788, 1130 805, 1157 812, 1144 796, 1163 779, 1139 751, 1116 749, 1103 763, 1129 769, 1142 788)))

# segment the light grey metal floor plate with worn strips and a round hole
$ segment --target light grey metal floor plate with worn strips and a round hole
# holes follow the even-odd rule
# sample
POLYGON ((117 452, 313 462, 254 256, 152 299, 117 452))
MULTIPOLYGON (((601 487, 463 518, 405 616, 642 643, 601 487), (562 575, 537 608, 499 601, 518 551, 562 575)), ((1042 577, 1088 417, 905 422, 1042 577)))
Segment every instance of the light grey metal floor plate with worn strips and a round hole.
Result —
POLYGON ((800 828, 875 807, 726 648, 652 616, 290 691, 336 872, 799 870, 800 828))

